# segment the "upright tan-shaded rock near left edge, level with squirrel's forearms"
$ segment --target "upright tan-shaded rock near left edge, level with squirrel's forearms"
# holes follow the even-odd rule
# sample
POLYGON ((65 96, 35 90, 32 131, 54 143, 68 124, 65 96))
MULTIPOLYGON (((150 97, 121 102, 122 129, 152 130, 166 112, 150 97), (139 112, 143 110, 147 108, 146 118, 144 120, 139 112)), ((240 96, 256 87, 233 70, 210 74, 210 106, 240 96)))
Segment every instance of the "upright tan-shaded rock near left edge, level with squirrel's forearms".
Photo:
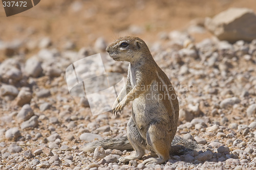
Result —
POLYGON ((25 104, 29 104, 32 99, 32 93, 28 87, 22 87, 18 93, 16 98, 17 105, 24 106, 25 104))

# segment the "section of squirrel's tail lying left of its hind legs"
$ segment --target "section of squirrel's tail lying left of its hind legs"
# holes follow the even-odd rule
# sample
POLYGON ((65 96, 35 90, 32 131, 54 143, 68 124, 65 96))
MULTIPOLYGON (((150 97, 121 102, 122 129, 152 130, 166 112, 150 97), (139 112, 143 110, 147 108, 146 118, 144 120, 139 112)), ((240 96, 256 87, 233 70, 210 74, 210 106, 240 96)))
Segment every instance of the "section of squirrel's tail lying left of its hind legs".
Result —
POLYGON ((127 136, 122 136, 119 138, 96 140, 96 141, 85 144, 84 147, 81 148, 81 150, 84 152, 93 152, 97 147, 102 147, 105 150, 106 149, 116 149, 120 151, 133 150, 133 147, 129 143, 127 136))

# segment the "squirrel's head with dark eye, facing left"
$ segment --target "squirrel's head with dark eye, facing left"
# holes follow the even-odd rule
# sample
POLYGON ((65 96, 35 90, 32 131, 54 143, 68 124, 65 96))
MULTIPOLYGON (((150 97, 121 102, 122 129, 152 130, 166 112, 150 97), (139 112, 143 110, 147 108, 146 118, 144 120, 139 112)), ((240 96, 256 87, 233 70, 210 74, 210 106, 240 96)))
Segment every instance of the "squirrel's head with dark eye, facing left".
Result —
POLYGON ((146 57, 150 51, 146 43, 138 37, 121 37, 106 47, 106 52, 116 61, 134 62, 146 57))

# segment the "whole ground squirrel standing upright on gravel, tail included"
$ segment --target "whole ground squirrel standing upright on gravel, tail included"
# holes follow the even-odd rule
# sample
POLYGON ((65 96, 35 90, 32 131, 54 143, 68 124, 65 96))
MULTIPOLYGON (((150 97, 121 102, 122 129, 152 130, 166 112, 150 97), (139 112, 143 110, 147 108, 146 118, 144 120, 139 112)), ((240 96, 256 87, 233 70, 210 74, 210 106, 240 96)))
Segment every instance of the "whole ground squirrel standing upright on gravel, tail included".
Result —
POLYGON ((121 112, 125 105, 133 102, 132 117, 127 123, 127 137, 104 139, 87 143, 83 151, 104 149, 129 150, 135 154, 121 157, 125 163, 140 159, 145 150, 157 154, 144 164, 163 163, 170 154, 181 153, 196 147, 193 142, 176 136, 179 117, 179 103, 172 83, 153 59, 146 43, 137 37, 121 37, 106 47, 116 61, 130 62, 127 81, 116 101, 112 113, 121 112))

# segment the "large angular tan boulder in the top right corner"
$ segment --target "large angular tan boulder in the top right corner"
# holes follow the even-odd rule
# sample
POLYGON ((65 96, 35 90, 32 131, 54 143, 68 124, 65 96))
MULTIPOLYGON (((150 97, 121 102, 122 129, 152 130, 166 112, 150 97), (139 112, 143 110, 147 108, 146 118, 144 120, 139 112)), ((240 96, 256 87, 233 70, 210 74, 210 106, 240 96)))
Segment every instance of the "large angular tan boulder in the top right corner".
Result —
POLYGON ((256 38, 256 15, 247 8, 230 8, 206 18, 205 27, 220 40, 251 41, 256 38))

